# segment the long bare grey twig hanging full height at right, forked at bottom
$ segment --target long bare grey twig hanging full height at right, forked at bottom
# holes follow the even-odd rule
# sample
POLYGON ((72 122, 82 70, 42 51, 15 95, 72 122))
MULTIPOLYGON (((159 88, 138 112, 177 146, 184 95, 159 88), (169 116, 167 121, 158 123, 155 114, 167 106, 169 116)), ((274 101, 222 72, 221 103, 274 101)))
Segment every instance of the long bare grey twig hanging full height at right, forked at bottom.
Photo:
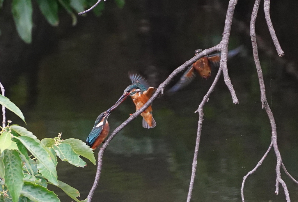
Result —
POLYGON ((271 111, 271 109, 268 105, 267 99, 266 99, 266 91, 265 91, 265 84, 264 84, 264 79, 263 79, 263 72, 262 72, 262 68, 261 68, 261 65, 260 65, 260 60, 259 60, 259 55, 258 55, 258 50, 257 50, 255 22, 256 22, 256 18, 257 18, 257 12, 258 12, 258 9, 259 9, 259 5, 260 5, 260 0, 256 0, 255 3, 254 3, 254 8, 253 8, 253 11, 252 11, 252 16, 251 16, 251 21, 250 21, 250 36, 251 36, 251 39, 252 39, 252 50, 253 50, 253 55, 254 55, 254 63, 256 64, 257 74, 258 74, 258 78, 259 78, 262 108, 264 108, 266 110, 266 113, 267 113, 268 118, 270 120, 271 139, 272 139, 272 142, 273 142, 274 152, 275 152, 275 155, 276 155, 276 158, 277 158, 275 193, 276 194, 279 193, 279 183, 282 184, 282 186, 284 188, 284 191, 285 191, 285 198, 286 198, 287 202, 290 202, 291 200, 290 200, 290 195, 289 195, 287 186, 286 186, 285 182, 281 179, 280 166, 281 166, 281 163, 282 163, 282 158, 281 158, 278 146, 277 146, 276 124, 275 124, 274 116, 272 114, 272 111, 271 111))

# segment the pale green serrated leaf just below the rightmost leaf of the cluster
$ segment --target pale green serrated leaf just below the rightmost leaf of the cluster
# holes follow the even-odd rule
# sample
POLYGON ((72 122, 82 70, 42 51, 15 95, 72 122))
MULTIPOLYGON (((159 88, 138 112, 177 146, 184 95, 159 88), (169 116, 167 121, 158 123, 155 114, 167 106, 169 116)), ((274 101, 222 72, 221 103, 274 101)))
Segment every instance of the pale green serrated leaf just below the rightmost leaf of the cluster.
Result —
POLYGON ((79 155, 75 153, 70 144, 61 143, 58 146, 54 145, 54 150, 62 161, 67 161, 77 167, 79 166, 79 155))

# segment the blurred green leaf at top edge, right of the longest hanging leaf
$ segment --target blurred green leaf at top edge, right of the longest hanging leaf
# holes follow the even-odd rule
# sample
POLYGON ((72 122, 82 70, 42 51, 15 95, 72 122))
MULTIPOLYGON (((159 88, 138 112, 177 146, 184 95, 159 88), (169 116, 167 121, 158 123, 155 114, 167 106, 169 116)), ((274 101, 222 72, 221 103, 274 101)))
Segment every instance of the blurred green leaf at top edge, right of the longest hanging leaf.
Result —
POLYGON ((58 4, 56 0, 37 0, 39 9, 52 26, 58 26, 58 4))

